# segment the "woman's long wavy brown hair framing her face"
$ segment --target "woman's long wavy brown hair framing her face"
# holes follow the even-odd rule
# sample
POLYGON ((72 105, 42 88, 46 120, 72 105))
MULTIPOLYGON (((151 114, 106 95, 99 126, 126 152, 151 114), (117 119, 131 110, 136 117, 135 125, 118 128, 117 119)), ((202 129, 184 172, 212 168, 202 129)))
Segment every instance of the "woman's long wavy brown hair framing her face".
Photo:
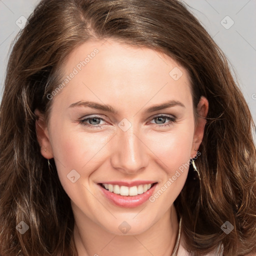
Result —
POLYGON ((254 124, 224 54, 197 19, 177 0, 42 0, 13 42, 0 106, 0 255, 77 255, 70 199, 54 161, 49 168, 40 154, 33 111, 50 113, 47 95, 75 47, 107 38, 172 57, 189 72, 194 109, 201 95, 209 101, 195 161, 201 181, 190 169, 174 201, 186 249, 256 250, 254 124), (225 221, 234 226, 229 234, 225 221))

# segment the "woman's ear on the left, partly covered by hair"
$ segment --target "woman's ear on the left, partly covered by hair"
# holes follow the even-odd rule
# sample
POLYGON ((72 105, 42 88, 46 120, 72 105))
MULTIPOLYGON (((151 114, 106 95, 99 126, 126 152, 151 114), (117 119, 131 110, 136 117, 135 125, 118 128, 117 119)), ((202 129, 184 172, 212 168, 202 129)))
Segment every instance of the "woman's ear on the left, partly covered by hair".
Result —
POLYGON ((48 128, 44 121, 44 115, 36 108, 34 110, 36 115, 35 130, 37 141, 41 147, 41 155, 46 159, 53 157, 52 148, 49 140, 48 128))

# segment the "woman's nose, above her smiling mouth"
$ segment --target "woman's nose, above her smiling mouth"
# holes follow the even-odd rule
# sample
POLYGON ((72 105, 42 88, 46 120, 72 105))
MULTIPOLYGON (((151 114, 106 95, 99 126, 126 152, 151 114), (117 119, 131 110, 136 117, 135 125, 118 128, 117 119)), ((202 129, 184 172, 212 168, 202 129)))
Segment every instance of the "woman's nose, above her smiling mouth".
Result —
POLYGON ((125 174, 143 170, 148 165, 148 149, 144 143, 133 125, 126 131, 118 130, 111 145, 110 162, 113 168, 125 174))

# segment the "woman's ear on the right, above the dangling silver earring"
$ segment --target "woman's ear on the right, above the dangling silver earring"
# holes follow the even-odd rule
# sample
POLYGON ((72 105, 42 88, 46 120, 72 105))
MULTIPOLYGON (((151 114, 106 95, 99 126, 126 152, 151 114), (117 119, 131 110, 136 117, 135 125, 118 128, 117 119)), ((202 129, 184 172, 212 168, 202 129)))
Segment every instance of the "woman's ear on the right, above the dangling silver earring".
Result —
POLYGON ((195 157, 196 152, 199 148, 199 145, 201 144, 203 132, 204 132, 204 126, 206 123, 205 117, 208 112, 208 107, 209 107, 208 100, 204 96, 201 96, 196 107, 197 114, 196 114, 196 120, 195 120, 193 144, 192 144, 191 155, 190 155, 191 158, 195 157))

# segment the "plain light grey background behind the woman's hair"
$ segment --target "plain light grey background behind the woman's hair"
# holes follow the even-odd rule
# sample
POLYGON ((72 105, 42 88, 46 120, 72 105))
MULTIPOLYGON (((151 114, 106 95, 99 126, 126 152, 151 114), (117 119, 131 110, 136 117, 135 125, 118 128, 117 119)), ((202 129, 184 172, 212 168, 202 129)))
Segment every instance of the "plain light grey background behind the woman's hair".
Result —
MULTIPOLYGON (((20 29, 16 22, 28 17, 38 2, 0 0, 0 98, 10 43, 20 29)), ((256 0, 184 2, 227 56, 256 123, 256 0)))

